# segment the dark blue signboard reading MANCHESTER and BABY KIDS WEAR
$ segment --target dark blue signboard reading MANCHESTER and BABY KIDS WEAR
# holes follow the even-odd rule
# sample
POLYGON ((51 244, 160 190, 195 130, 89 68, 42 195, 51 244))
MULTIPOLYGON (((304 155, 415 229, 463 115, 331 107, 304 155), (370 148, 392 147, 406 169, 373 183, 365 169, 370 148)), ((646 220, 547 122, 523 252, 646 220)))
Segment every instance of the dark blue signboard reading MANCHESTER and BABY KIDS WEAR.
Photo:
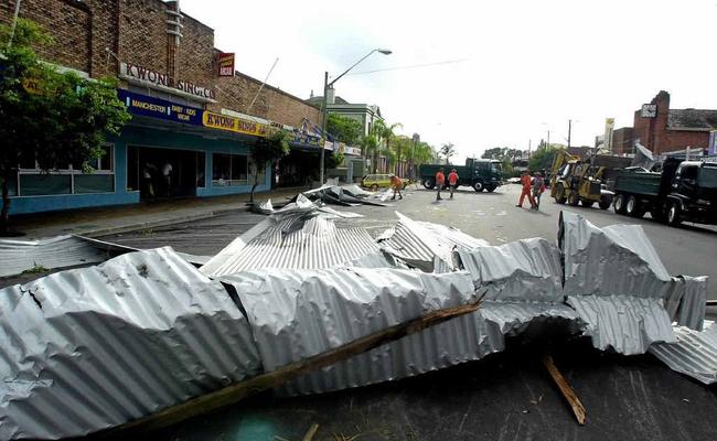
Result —
POLYGON ((127 106, 127 110, 132 115, 202 126, 202 112, 204 110, 197 107, 183 106, 165 99, 135 94, 124 89, 117 90, 117 97, 127 106))

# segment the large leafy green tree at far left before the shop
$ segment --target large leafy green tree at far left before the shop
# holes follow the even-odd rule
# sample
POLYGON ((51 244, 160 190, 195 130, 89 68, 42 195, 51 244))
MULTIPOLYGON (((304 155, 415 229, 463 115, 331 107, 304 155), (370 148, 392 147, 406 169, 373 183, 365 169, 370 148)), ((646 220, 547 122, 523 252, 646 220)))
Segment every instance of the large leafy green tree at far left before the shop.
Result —
POLYGON ((107 133, 117 135, 130 116, 117 99, 111 78, 86 80, 58 73, 40 62, 33 47, 52 40, 32 21, 18 20, 12 44, 10 29, 0 25, 0 230, 9 229, 9 183, 18 164, 36 162, 51 173, 63 164, 82 164, 100 158, 107 133))

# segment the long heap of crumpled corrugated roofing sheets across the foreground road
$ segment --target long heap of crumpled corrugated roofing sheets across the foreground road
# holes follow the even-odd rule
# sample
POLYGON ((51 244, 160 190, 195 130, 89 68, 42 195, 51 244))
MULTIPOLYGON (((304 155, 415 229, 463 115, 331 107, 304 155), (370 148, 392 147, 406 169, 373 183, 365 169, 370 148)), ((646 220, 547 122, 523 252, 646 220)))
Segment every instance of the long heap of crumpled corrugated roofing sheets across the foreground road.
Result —
POLYGON ((303 194, 269 207, 199 270, 159 248, 0 290, 0 351, 10 361, 0 365, 0 438, 167 422, 173 406, 185 418, 257 385, 297 395, 395 380, 501 352, 531 325, 567 324, 598 349, 649 351, 703 383, 717 378, 706 278, 671 277, 640 227, 598 228, 564 212, 557 245, 491 246, 398 213, 374 239, 335 223, 358 215, 303 194), (298 370, 280 374, 289 366, 298 370), (71 410, 25 411, 51 401, 71 410))

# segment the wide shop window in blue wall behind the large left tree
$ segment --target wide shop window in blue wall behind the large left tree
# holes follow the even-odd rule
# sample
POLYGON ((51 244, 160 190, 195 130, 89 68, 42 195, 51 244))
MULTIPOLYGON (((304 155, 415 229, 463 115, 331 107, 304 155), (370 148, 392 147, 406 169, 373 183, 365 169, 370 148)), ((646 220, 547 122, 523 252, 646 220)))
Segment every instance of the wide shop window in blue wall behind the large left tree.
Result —
POLYGON ((95 169, 84 173, 82 164, 61 165, 57 170, 43 172, 34 161, 23 160, 18 172, 18 196, 44 196, 56 194, 111 193, 115 191, 114 148, 103 146, 104 154, 88 161, 95 169))

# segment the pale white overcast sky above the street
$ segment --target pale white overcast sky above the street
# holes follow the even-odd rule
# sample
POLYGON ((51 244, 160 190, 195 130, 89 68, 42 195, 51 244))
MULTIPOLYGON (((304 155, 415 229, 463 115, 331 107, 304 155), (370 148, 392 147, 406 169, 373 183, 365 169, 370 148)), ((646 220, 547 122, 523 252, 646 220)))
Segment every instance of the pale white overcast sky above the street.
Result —
POLYGON ((376 104, 460 157, 497 146, 533 148, 550 130, 593 144, 604 118, 632 126, 633 111, 661 89, 672 108, 717 108, 717 0, 398 1, 181 0, 212 26, 236 68, 308 98, 323 72, 336 95, 376 104), (445 64, 438 64, 445 63, 445 64), (410 67, 435 64, 425 67, 410 67), (367 73, 371 71, 382 71, 367 73))

